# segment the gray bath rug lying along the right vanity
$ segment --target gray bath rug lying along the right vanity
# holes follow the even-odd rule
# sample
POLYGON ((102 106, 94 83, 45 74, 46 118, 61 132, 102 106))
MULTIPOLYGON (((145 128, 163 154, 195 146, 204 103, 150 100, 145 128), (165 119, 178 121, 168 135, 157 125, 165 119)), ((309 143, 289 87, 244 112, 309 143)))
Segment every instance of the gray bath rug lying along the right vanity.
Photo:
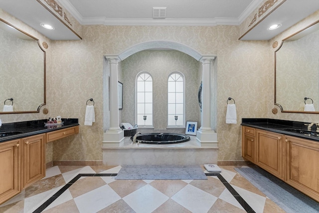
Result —
POLYGON ((259 167, 235 168, 287 213, 318 213, 319 203, 259 167))

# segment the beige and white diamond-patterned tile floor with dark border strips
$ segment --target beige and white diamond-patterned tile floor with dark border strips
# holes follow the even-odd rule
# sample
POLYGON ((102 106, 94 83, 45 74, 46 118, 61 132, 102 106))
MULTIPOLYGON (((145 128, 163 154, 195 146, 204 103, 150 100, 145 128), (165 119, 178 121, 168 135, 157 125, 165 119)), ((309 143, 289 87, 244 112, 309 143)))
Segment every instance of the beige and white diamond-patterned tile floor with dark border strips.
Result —
POLYGON ((55 166, 0 213, 284 213, 234 166, 220 168, 207 180, 115 180, 121 166, 55 166))

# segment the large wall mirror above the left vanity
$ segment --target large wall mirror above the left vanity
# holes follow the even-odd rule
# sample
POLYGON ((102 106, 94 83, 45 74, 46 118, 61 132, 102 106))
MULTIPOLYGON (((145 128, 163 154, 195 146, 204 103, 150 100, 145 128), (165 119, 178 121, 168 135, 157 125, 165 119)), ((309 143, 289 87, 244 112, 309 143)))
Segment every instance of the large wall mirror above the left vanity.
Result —
POLYGON ((39 112, 45 105, 45 51, 38 39, 0 19, 0 47, 0 113, 39 112))

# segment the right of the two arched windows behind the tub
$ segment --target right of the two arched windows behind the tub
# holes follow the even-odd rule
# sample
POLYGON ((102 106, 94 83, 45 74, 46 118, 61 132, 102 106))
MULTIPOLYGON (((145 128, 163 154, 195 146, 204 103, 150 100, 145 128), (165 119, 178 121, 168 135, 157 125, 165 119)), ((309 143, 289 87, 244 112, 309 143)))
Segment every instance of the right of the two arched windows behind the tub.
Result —
POLYGON ((168 77, 168 126, 185 126, 184 78, 180 73, 168 77))

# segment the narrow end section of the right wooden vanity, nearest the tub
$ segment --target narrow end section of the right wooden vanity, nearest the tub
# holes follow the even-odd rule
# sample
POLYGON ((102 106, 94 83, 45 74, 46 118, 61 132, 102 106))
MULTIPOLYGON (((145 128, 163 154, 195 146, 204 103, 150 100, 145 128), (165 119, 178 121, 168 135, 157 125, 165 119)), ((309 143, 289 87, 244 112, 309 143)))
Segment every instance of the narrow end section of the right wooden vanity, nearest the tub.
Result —
POLYGON ((248 126, 242 126, 242 156, 256 164, 255 141, 256 129, 248 126))

